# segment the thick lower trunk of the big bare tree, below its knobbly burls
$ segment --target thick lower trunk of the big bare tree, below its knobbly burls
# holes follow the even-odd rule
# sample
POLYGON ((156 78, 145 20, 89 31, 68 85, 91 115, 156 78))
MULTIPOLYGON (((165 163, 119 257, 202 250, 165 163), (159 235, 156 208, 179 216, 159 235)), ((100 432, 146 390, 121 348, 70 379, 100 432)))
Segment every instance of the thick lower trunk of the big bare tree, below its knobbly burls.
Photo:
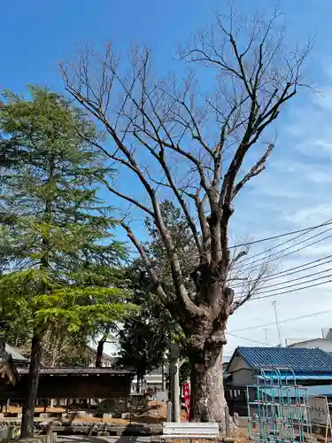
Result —
POLYGON ((224 386, 222 380, 223 345, 194 351, 190 361, 190 421, 218 422, 225 429, 224 386))

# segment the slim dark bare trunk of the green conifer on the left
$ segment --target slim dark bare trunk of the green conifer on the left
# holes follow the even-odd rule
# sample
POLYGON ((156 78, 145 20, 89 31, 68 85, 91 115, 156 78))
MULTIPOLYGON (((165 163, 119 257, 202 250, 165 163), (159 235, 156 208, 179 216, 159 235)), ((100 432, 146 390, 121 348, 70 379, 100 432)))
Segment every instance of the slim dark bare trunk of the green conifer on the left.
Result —
POLYGON ((34 333, 31 344, 31 360, 27 375, 27 395, 23 404, 20 438, 27 439, 34 435, 35 400, 37 398, 39 372, 42 361, 42 334, 34 333))

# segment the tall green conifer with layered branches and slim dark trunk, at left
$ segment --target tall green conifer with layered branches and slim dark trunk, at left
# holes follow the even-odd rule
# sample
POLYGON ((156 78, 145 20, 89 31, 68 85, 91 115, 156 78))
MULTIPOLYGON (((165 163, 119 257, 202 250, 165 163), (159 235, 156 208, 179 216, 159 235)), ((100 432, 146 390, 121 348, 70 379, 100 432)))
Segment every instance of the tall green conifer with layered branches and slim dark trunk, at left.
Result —
POLYGON ((96 139, 97 130, 64 97, 37 87, 28 92, 6 92, 0 108, 0 151, 10 165, 0 175, 2 315, 33 330, 22 438, 34 431, 48 325, 88 334, 130 307, 101 272, 119 266, 125 251, 112 238, 111 208, 97 197, 104 159, 84 141, 96 139))

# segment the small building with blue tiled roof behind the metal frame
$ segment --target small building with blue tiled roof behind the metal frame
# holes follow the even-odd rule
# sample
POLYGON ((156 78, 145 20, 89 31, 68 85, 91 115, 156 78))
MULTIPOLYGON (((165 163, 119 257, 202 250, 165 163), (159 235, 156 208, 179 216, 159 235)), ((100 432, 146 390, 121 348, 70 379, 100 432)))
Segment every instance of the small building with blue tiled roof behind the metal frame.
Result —
POLYGON ((328 385, 332 385, 332 354, 319 348, 239 346, 228 363, 224 381, 231 413, 247 414, 247 386, 259 382, 262 369, 279 369, 282 381, 287 378, 288 383, 308 389, 320 385, 324 392, 331 392, 328 385))

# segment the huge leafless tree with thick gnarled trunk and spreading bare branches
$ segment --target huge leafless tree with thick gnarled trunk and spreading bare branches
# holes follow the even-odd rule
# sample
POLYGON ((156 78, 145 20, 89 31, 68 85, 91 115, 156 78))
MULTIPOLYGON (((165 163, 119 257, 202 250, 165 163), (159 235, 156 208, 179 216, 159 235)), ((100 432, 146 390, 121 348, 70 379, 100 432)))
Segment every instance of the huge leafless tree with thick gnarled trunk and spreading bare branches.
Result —
POLYGON ((160 233, 172 273, 172 297, 166 295, 139 238, 122 222, 154 291, 187 337, 191 419, 218 421, 221 428, 228 317, 251 298, 264 273, 259 268, 243 278, 236 268, 245 251, 231 253, 228 245, 233 203, 266 167, 274 143, 264 144, 261 137, 267 132, 271 140, 267 128, 297 93, 308 51, 286 51, 277 22, 277 13, 268 22, 254 19, 251 27, 236 22, 233 12, 227 19, 219 16, 216 27, 181 50, 182 62, 198 68, 198 74, 190 71, 184 80, 179 75, 156 80, 147 49, 133 49, 127 69, 111 44, 102 56, 84 51, 77 63, 62 66, 66 89, 104 125, 112 140, 94 143, 140 183, 127 192, 111 179, 105 185, 148 215, 160 233), (160 211, 163 191, 181 207, 195 241, 191 286, 184 281, 160 211), (238 287, 241 278, 241 291, 233 291, 232 284, 237 281, 238 287))

